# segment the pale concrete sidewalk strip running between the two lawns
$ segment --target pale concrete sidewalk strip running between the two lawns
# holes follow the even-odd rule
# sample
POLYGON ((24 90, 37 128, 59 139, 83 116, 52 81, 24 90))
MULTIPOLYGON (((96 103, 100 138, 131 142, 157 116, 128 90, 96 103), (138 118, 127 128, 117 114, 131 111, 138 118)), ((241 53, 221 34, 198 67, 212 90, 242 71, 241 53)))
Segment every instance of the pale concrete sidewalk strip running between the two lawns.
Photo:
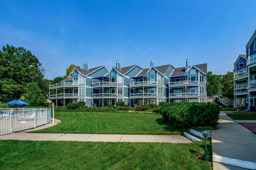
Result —
POLYGON ((30 141, 84 141, 84 142, 156 142, 192 143, 181 135, 107 135, 107 134, 63 134, 63 133, 14 133, 0 136, 0 140, 30 141))

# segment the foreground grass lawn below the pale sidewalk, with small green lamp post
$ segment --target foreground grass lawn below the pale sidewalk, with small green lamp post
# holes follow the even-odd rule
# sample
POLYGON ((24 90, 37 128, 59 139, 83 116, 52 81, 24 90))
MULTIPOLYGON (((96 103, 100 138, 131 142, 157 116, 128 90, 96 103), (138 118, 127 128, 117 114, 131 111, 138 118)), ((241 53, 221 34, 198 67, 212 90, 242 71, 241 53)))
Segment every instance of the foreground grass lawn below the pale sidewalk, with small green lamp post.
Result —
MULTIPOLYGON (((211 170, 204 141, 174 143, 101 143, 0 141, 0 169, 179 169, 211 170)), ((208 149, 210 141, 208 141, 208 149)), ((212 159, 209 150, 209 159, 212 159)))

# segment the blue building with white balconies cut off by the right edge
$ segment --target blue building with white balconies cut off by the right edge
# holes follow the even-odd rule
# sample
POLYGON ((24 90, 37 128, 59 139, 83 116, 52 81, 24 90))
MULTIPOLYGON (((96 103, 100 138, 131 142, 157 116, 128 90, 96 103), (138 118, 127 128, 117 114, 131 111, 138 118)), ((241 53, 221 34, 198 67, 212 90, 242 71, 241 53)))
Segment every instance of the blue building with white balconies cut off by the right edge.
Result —
POLYGON ((246 44, 246 54, 234 63, 234 106, 256 107, 256 30, 246 44))

